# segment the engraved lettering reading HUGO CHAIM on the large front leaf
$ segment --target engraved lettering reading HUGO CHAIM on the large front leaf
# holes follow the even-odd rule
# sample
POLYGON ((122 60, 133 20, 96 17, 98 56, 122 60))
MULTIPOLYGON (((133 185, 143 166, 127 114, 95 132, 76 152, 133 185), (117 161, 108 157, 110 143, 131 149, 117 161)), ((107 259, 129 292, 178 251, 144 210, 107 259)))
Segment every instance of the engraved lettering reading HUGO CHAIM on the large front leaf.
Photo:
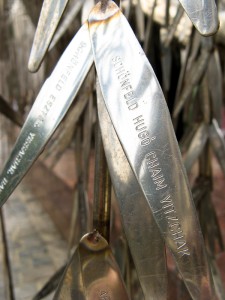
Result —
MULTIPOLYGON (((138 99, 131 83, 130 72, 126 70, 124 62, 120 56, 113 57, 112 64, 120 84, 120 88, 123 94, 123 100, 125 100, 129 110, 138 111, 138 99)), ((143 115, 139 114, 137 115, 137 117, 133 118, 133 125, 137 132, 137 136, 140 139, 141 146, 147 146, 156 139, 155 136, 150 138, 149 131, 145 124, 146 122, 143 115)), ((167 195, 162 200, 160 200, 160 203, 162 204, 163 214, 166 218, 171 238, 176 245, 177 253, 180 257, 189 256, 190 251, 188 249, 179 218, 176 214, 173 199, 167 191, 169 187, 166 183, 166 179, 164 177, 156 152, 151 151, 147 153, 145 155, 145 160, 147 169, 151 173, 151 178, 155 185, 156 191, 165 191, 164 194, 167 195)))

